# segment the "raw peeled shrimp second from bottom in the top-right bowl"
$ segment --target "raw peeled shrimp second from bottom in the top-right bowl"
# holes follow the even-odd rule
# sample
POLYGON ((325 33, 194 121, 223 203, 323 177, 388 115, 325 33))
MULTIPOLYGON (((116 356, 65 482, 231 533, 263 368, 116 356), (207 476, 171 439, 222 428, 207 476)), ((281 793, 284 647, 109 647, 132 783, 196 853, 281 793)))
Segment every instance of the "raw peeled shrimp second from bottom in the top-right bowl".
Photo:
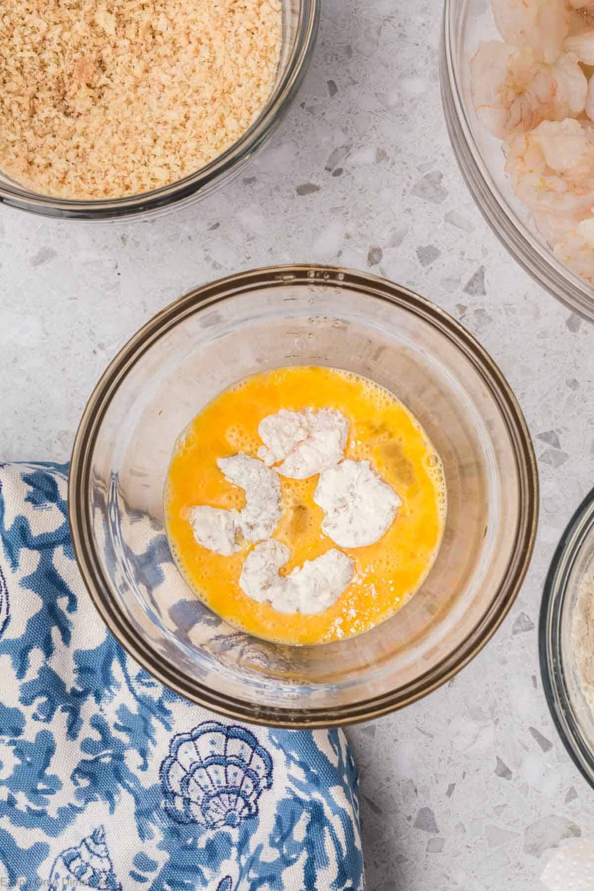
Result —
POLYGON ((594 127, 543 121, 506 143, 506 173, 517 197, 537 213, 580 220, 594 207, 594 127))

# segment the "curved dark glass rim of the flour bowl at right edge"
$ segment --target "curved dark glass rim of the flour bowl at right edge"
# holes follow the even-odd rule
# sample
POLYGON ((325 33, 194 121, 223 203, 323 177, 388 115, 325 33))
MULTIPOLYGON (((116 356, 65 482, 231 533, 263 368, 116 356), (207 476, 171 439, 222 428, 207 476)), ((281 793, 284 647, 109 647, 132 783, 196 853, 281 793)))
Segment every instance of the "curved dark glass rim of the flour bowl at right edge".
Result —
POLYGON ((566 751, 594 789, 594 752, 584 742, 567 694, 559 645, 561 612, 572 571, 594 529, 594 488, 590 489, 561 536, 544 584, 539 617, 539 662, 542 689, 550 716, 566 751))

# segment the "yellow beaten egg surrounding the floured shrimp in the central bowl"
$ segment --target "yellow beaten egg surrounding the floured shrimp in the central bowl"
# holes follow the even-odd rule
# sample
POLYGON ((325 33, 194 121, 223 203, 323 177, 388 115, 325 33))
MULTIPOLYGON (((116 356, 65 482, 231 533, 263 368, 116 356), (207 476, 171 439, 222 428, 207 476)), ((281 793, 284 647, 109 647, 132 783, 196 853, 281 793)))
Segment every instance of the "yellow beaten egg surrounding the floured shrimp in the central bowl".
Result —
MULTIPOLYGON (((283 516, 273 537, 291 551, 281 575, 337 545, 321 532, 313 502, 319 475, 281 479, 283 516)), ((367 631, 403 606, 427 576, 442 541, 446 512, 443 467, 419 422, 387 389, 352 372, 294 366, 261 372, 216 396, 191 421, 176 446, 165 492, 169 544, 186 581, 226 621, 284 643, 336 641, 367 631), (376 544, 341 548, 354 578, 329 609, 281 613, 243 593, 239 578, 254 544, 231 557, 198 544, 188 519, 197 504, 245 506, 243 489, 225 480, 216 459, 262 446, 258 424, 281 408, 334 408, 348 419, 345 457, 368 460, 402 499, 392 526, 376 544)))

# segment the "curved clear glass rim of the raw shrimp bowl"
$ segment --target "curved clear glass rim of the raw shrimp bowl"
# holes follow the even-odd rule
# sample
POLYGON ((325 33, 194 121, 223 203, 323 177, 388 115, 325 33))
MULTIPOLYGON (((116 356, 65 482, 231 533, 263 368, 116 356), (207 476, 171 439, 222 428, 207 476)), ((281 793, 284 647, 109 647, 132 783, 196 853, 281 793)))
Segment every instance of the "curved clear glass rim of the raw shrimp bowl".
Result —
POLYGON ((492 232, 533 281, 572 312, 594 322, 594 290, 590 289, 588 292, 585 282, 579 276, 563 266, 552 251, 543 249, 500 193, 484 163, 468 120, 454 55, 455 2, 456 0, 444 0, 443 4, 440 92, 450 144, 468 192, 492 232))

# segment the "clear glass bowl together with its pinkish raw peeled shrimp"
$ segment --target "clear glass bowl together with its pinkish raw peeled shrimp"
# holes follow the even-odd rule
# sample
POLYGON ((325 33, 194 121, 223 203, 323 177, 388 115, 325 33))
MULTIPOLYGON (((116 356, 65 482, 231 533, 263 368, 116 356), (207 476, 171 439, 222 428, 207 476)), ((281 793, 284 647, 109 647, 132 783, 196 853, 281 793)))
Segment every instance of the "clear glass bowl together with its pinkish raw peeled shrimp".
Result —
POLYGON ((443 110, 478 207, 594 321, 594 0, 445 0, 443 110))

